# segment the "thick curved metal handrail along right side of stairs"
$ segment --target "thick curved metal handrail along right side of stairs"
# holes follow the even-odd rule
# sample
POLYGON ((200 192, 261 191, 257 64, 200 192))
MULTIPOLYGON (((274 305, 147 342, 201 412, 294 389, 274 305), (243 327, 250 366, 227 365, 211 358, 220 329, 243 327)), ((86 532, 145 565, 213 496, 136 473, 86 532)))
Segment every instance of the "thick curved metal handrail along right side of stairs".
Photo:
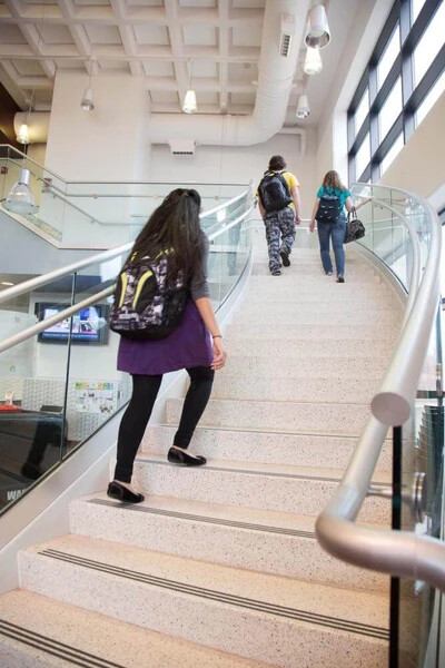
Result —
MULTIPOLYGON (((363 187, 362 184, 359 185, 363 187)), ((373 188, 373 186, 368 187, 373 188)), ((378 187, 383 188, 383 186, 378 187)), ((402 424, 395 421, 406 414, 405 402, 414 401, 438 302, 442 242, 438 217, 429 204, 421 198, 396 188, 392 188, 392 191, 402 193, 417 200, 429 215, 432 237, 428 258, 418 287, 413 286, 415 298, 376 395, 378 401, 374 405, 374 414, 366 423, 337 491, 317 518, 316 536, 324 549, 338 559, 392 576, 425 580, 445 590, 444 542, 407 531, 374 529, 355 523, 362 504, 369 493, 372 477, 386 438, 388 422, 394 425, 402 424), (388 394, 390 399, 396 397, 395 410, 388 415, 390 421, 384 424, 377 420, 378 415, 375 415, 376 412, 380 413, 382 400, 388 394)), ((411 403, 408 407, 411 411, 411 403)))

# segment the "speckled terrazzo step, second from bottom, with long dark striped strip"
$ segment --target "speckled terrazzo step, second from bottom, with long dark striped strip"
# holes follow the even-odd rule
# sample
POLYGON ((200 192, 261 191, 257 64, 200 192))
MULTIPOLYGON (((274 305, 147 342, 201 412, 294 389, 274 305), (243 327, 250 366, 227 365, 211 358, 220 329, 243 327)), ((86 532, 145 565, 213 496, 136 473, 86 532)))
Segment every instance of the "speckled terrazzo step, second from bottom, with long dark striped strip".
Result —
POLYGON ((30 548, 19 566, 36 593, 279 668, 387 665, 386 595, 81 536, 30 548))

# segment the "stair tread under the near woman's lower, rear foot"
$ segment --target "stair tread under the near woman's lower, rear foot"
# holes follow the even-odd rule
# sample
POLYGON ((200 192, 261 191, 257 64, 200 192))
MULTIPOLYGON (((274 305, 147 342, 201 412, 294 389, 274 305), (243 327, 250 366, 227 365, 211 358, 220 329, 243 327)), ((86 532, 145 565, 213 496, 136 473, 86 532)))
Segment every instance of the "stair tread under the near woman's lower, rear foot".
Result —
MULTIPOLYGON (((254 508, 225 505, 222 503, 210 503, 194 501, 192 499, 179 499, 176 497, 160 497, 157 494, 147 494, 145 501, 138 504, 126 504, 113 501, 105 492, 88 494, 81 499, 76 499, 72 503, 91 505, 106 505, 118 510, 135 511, 144 514, 154 512, 166 514, 167 517, 196 520, 196 521, 216 521, 221 524, 236 528, 246 528, 251 530, 274 530, 289 536, 295 532, 296 536, 305 534, 305 538, 315 540, 315 515, 303 515, 290 512, 278 512, 268 510, 258 510, 254 508), (243 525, 243 527, 241 527, 243 525)), ((89 510, 90 512, 90 510, 89 510)), ((364 523, 367 527, 379 527, 378 524, 364 523)))

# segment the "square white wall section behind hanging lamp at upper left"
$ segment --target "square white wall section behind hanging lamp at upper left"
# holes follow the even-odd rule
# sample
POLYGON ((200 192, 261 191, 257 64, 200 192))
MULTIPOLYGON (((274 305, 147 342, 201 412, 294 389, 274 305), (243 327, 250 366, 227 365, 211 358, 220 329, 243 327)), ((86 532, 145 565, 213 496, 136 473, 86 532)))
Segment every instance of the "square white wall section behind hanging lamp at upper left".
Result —
POLYGON ((46 163, 66 180, 144 180, 150 161, 144 77, 92 77, 95 110, 80 100, 88 77, 56 76, 46 163))

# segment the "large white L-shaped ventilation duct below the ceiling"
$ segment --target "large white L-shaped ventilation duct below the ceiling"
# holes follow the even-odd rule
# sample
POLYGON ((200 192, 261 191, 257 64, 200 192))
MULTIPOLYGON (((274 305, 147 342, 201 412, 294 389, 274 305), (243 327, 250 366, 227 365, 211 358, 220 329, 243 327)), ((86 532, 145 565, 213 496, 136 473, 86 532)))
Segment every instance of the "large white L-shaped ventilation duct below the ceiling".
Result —
POLYGON ((199 145, 250 146, 276 135, 285 122, 308 6, 309 0, 266 0, 253 114, 151 114, 148 126, 151 144, 171 144, 176 139, 192 137, 199 145), (280 55, 283 35, 290 35, 290 22, 294 32, 284 57, 280 55))

